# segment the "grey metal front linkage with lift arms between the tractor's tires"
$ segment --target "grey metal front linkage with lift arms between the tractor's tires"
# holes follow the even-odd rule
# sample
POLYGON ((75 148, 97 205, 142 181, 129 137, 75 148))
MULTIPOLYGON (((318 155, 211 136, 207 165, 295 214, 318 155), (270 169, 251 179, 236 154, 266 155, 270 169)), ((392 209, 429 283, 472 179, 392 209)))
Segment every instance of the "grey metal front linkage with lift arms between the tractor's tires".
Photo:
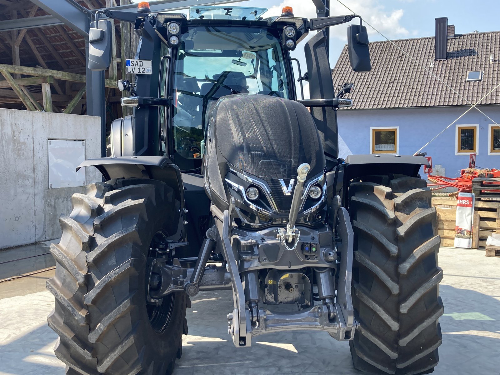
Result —
MULTIPOLYGON (((276 230, 271 228, 250 234, 233 229, 230 225, 233 220, 230 214, 234 208, 233 199, 231 199, 229 210, 223 212, 214 205, 211 206, 216 224, 207 231, 194 267, 182 267, 180 261, 185 262, 186 259, 179 259, 177 264, 168 264, 156 258, 151 259, 149 303, 155 304, 156 301, 172 292, 185 291, 189 296, 194 296, 199 290, 232 288, 234 309, 227 314, 228 332, 237 347, 250 346, 252 335, 285 330, 325 330, 338 341, 351 340, 356 329, 356 321, 350 287, 353 232, 347 210, 343 207, 336 209, 333 239, 331 239, 331 230, 327 226, 321 231, 301 228, 301 237, 304 241, 316 238, 320 242, 326 240, 328 243, 327 238, 330 236, 329 245, 324 246, 320 243, 321 251, 318 251, 317 255, 304 255, 301 245, 307 245, 308 242, 300 242, 295 247, 297 251, 282 248, 277 259, 267 259, 265 250, 259 252, 259 248, 265 249, 266 246, 275 246, 279 243, 276 235, 272 234, 276 230), (331 243, 332 240, 336 242, 336 250, 331 243), (206 265, 214 248, 221 249, 226 260, 225 268, 206 265), (339 254, 339 261, 337 254, 339 254), (293 267, 283 272, 287 272, 288 275, 301 275, 306 282, 305 289, 307 286, 310 288, 310 281, 307 275, 301 273, 299 267, 315 265, 312 269, 316 277, 318 299, 322 303, 288 313, 271 312, 266 308, 259 308, 257 304, 260 299, 258 270, 269 268, 269 260, 274 260, 273 269, 293 267), (291 265, 292 262, 293 265, 291 265), (336 299, 332 271, 338 273, 336 299)), ((173 243, 170 247, 174 248, 173 243)), ((298 284, 293 286, 298 287, 298 284)), ((286 285, 277 285, 277 287, 286 287, 286 285)), ((271 299, 273 298, 271 295, 271 299)))

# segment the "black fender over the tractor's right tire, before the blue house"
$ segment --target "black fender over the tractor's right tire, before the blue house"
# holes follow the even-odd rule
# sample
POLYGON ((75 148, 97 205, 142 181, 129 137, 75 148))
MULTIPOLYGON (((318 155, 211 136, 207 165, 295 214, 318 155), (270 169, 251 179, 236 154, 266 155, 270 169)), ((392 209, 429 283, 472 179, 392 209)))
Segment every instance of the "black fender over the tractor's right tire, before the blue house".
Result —
POLYGON ((429 165, 423 156, 368 154, 349 155, 345 163, 338 164, 334 170, 326 173, 328 198, 340 195, 342 205, 345 207, 348 182, 351 179, 370 174, 405 174, 417 177, 422 165, 429 165))

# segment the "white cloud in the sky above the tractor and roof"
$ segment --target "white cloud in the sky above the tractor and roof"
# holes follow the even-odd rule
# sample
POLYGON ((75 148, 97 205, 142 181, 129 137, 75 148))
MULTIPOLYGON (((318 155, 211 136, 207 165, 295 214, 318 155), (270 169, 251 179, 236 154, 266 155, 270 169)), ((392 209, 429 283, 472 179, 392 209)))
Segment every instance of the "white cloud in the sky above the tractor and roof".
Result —
MULTIPOLYGON (((349 0, 346 2, 346 5, 356 14, 360 15, 363 20, 369 22, 373 27, 389 38, 409 35, 409 31, 399 23, 404 13, 403 9, 388 10, 385 6, 381 5, 380 2, 379 0, 349 0)), ((316 16, 316 8, 312 1, 308 0, 284 0, 279 5, 271 6, 265 15, 279 15, 281 14, 281 8, 283 6, 291 6, 293 8, 293 14, 296 16, 307 18, 314 18, 316 16)), ((351 12, 338 1, 332 0, 330 2, 331 15, 350 13, 351 12)), ((352 22, 355 22, 355 20, 352 22)), ((346 41, 346 29, 347 24, 330 27, 330 35, 346 41)), ((377 34, 376 31, 369 26, 367 26, 367 30, 370 35, 377 34)))

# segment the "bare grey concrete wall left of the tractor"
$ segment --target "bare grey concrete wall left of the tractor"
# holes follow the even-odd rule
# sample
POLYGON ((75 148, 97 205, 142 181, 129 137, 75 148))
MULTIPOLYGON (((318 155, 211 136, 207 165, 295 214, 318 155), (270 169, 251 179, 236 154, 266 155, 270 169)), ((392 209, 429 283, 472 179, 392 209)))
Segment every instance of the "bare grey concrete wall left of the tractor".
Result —
MULTIPOLYGON (((99 118, 0 108, 0 248, 60 236, 60 213, 85 187, 48 187, 48 139, 85 140, 85 157, 100 156, 99 118)), ((94 167, 85 181, 100 181, 94 167)))

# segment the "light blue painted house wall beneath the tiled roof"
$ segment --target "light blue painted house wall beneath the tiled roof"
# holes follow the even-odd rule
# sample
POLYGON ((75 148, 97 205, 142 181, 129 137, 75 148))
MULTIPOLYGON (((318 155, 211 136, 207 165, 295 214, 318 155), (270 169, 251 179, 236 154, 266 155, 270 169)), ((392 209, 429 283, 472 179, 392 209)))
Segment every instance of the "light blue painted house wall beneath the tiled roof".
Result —
MULTIPOLYGON (((370 127, 399 127, 398 153, 413 154, 437 133, 449 125, 468 107, 414 108, 414 109, 341 109, 337 111, 339 154, 370 153, 370 127)), ((500 123, 500 106, 480 108, 495 122, 500 123)), ((432 156, 434 166, 442 165, 447 177, 456 177, 460 169, 468 167, 468 153, 456 155, 456 125, 477 125, 476 165, 484 168, 500 169, 500 153, 488 155, 489 126, 492 123, 476 109, 471 109, 455 124, 451 125, 429 145, 422 149, 432 156)), ((439 171, 439 170, 438 170, 439 171)), ((436 168, 434 167, 434 174, 436 168)))

